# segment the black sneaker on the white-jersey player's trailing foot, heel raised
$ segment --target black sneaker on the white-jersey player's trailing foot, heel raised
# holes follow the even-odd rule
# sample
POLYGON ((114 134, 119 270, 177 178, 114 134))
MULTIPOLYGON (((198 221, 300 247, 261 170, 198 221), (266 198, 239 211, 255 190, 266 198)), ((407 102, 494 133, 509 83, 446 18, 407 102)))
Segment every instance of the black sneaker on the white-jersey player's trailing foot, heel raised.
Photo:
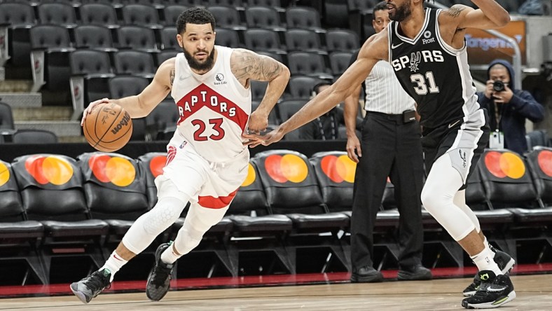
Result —
POLYGON ((172 264, 161 261, 161 254, 169 248, 172 242, 160 244, 156 250, 156 266, 148 278, 146 284, 146 296, 150 300, 159 301, 167 294, 170 288, 172 264))

